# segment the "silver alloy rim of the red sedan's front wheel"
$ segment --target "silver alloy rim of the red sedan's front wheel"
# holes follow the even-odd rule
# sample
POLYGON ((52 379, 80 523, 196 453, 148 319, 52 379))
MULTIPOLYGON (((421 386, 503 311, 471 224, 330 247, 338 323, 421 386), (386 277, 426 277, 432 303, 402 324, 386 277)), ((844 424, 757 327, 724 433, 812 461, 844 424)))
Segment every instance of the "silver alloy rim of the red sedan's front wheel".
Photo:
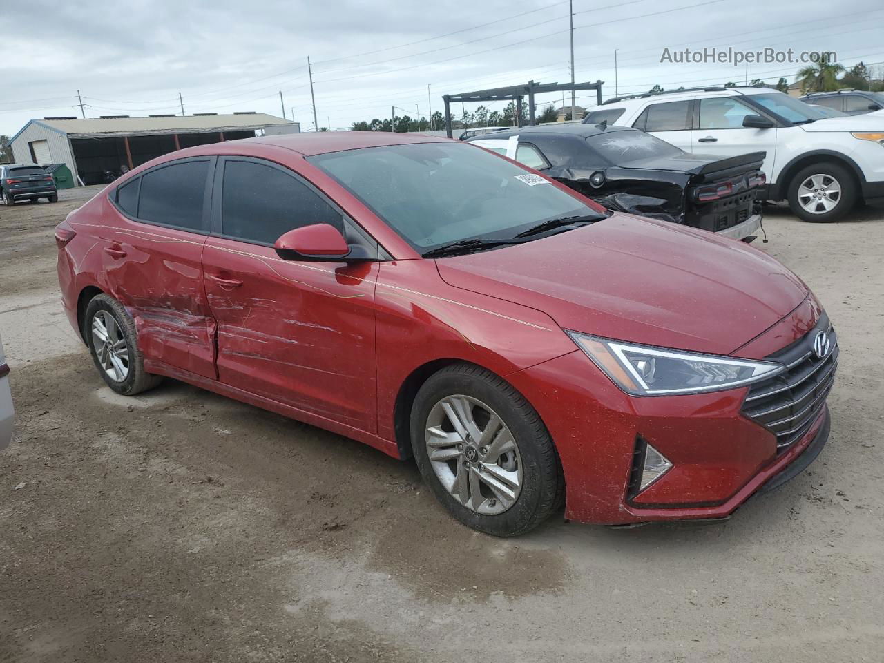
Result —
POLYGON ((522 457, 506 423, 481 400, 453 395, 427 417, 433 472, 454 499, 477 514, 501 514, 522 492, 522 457))

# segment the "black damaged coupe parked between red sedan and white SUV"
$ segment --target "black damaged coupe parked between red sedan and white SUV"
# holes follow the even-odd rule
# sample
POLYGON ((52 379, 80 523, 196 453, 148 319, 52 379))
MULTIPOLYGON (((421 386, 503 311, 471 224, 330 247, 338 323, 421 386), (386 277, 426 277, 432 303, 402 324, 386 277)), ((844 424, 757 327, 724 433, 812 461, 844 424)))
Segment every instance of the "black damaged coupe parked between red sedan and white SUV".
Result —
MULTIPOLYGON (((543 171, 609 210, 755 239, 764 152, 694 155, 637 129, 545 125, 469 142, 543 171)), ((751 241, 751 240, 750 240, 751 241)))

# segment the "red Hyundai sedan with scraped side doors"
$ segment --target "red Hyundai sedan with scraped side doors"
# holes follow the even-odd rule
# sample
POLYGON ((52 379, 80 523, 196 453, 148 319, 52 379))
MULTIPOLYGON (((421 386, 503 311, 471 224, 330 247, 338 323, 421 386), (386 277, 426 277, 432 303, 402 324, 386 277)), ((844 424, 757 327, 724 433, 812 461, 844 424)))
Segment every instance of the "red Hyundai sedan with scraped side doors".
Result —
POLYGON ((787 268, 416 133, 133 169, 57 226, 122 394, 174 377, 415 457, 476 530, 720 518, 826 443, 837 344, 787 268))

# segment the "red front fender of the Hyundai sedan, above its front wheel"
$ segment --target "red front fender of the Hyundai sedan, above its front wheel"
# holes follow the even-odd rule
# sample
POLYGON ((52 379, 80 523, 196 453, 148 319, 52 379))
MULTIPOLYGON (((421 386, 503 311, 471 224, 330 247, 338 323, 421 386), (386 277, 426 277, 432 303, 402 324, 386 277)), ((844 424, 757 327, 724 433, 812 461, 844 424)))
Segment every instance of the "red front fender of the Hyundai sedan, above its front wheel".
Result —
POLYGON ((448 286, 431 260, 382 263, 376 304, 377 434, 388 439, 400 386, 424 363, 460 359, 507 376, 575 349, 545 313, 448 286))

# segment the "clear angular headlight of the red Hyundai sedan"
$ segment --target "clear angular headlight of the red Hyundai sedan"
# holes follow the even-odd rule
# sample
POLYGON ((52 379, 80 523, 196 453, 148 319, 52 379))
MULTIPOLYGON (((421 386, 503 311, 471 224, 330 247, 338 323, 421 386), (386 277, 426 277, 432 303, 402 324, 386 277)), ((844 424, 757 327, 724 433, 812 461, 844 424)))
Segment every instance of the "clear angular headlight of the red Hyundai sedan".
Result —
POLYGON ((773 377, 785 367, 774 362, 636 346, 577 331, 568 336, 624 392, 634 396, 714 392, 773 377))

